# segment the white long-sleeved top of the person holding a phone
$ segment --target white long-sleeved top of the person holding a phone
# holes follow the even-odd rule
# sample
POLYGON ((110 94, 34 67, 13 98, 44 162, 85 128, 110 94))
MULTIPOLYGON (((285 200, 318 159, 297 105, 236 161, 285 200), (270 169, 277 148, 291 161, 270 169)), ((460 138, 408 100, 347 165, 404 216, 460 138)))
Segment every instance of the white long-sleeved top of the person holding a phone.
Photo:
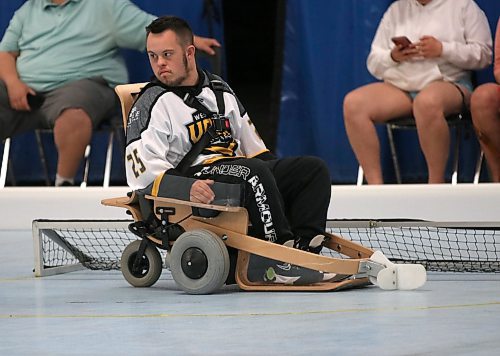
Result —
POLYGON ((488 66, 492 39, 484 12, 472 0, 399 0, 385 12, 373 39, 367 66, 377 79, 406 91, 418 91, 430 82, 456 82, 469 70, 488 66), (397 63, 391 58, 391 38, 406 36, 418 42, 433 36, 443 45, 439 58, 416 58, 397 63))

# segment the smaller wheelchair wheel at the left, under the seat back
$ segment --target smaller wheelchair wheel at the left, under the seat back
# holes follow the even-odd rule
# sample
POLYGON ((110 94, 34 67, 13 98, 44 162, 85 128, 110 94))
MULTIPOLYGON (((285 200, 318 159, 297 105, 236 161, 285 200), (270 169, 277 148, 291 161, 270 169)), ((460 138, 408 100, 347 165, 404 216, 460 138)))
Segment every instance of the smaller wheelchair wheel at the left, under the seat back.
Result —
POLYGON ((160 278, 162 259, 160 253, 152 244, 146 246, 144 257, 138 270, 133 270, 133 265, 141 246, 141 241, 133 241, 125 250, 121 258, 121 270, 125 280, 134 287, 151 287, 160 278))

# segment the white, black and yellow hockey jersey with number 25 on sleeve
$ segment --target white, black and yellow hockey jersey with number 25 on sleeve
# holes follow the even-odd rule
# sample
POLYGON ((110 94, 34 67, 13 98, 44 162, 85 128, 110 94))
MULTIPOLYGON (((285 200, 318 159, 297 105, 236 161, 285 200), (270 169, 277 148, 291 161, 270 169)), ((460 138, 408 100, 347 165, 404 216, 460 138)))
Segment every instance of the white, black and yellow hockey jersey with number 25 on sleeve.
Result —
MULTIPOLYGON (((148 86, 137 98, 127 123, 125 169, 130 188, 145 188, 157 176, 175 168, 212 125, 212 117, 183 100, 189 93, 210 112, 218 112, 207 74, 200 71, 199 75, 195 87, 169 88, 158 83, 148 86)), ((222 79, 216 80, 224 87, 224 116, 229 119, 230 131, 212 139, 192 165, 228 157, 254 157, 268 151, 233 91, 222 79)))

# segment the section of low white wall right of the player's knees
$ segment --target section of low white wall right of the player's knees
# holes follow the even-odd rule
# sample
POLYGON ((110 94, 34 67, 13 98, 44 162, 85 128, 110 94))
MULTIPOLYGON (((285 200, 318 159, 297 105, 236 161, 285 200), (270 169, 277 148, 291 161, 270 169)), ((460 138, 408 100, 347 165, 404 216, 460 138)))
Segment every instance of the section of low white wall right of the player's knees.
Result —
POLYGON ((500 221, 500 184, 332 186, 329 219, 500 221))

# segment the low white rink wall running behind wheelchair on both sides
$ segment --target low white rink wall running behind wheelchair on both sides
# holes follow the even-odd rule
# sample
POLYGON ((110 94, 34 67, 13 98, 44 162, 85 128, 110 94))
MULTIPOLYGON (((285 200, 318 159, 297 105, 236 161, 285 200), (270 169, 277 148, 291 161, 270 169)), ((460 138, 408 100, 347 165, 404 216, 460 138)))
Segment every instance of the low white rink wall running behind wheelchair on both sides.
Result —
MULTIPOLYGON (((128 219, 124 209, 100 204, 127 191, 127 187, 0 189, 0 229, 29 230, 34 219, 128 219)), ((495 222, 500 221, 500 184, 332 186, 328 218, 495 222)))

